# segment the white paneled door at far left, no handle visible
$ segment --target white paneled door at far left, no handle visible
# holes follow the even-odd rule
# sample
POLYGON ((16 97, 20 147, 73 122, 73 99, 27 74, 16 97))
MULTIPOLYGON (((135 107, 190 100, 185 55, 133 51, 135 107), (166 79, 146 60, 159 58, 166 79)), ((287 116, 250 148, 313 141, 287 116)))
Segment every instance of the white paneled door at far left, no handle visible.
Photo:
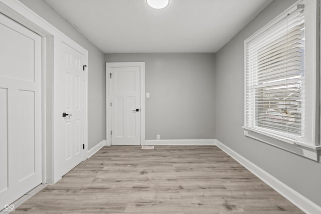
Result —
POLYGON ((0 209, 42 182, 42 38, 0 14, 0 209))

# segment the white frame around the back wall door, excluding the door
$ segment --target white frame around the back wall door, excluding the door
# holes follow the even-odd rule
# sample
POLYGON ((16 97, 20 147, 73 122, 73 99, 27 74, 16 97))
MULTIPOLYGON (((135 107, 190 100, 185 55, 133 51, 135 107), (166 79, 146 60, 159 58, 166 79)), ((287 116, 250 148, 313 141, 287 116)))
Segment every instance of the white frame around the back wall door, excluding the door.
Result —
POLYGON ((140 79, 140 145, 145 142, 145 62, 112 62, 106 63, 106 140, 111 145, 111 81, 110 69, 112 67, 139 67, 140 79))

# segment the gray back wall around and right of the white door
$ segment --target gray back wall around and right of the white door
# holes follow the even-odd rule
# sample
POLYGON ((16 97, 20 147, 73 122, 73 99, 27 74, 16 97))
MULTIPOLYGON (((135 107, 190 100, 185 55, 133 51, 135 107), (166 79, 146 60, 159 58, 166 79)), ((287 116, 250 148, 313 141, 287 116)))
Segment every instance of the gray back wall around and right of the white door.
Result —
POLYGON ((214 139, 215 54, 105 54, 145 62, 146 139, 214 139))

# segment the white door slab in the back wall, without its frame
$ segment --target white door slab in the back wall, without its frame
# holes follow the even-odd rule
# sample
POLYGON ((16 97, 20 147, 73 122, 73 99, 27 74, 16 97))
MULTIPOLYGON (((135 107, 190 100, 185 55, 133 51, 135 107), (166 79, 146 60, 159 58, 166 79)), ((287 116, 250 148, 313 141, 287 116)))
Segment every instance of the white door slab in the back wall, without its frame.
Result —
POLYGON ((140 68, 111 67, 110 73, 111 144, 140 145, 140 68))

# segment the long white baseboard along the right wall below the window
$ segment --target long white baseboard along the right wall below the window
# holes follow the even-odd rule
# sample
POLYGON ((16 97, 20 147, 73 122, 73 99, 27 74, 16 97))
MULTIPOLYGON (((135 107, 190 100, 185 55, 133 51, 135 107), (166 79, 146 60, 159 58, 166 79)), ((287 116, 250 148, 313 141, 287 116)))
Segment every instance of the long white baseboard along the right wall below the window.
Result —
POLYGON ((215 145, 222 149, 225 153, 247 168, 250 172, 255 174, 258 178, 260 178, 267 185, 272 187, 275 191, 280 193, 283 197, 291 201, 294 205, 300 208, 305 213, 321 213, 321 207, 304 197, 294 189, 290 188, 280 180, 276 179, 251 161, 247 160, 240 154, 233 151, 231 148, 227 147, 220 141, 216 140, 215 145))

